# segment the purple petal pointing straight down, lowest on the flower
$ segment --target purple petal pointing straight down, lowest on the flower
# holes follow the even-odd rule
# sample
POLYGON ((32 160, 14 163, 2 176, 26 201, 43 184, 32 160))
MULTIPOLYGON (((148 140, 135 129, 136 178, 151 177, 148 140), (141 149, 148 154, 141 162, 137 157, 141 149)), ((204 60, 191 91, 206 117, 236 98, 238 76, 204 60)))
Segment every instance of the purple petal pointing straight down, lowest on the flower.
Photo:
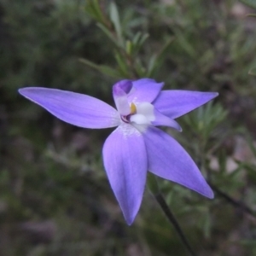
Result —
POLYGON ((113 193, 130 225, 141 205, 147 176, 142 134, 131 125, 120 125, 104 144, 103 160, 113 193))

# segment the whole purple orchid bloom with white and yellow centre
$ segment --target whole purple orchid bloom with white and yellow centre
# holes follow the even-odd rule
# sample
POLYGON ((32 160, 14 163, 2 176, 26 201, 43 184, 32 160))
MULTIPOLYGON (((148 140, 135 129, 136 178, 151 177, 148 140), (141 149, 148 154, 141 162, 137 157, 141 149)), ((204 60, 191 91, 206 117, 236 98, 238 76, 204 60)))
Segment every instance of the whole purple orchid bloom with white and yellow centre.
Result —
POLYGON ((132 224, 143 199, 147 172, 213 198, 189 154, 172 137, 154 127, 181 131, 174 119, 218 96, 216 92, 162 90, 153 79, 122 80, 113 85, 116 109, 94 97, 47 88, 19 90, 57 118, 84 128, 117 128, 103 146, 103 161, 113 193, 127 224, 132 224))

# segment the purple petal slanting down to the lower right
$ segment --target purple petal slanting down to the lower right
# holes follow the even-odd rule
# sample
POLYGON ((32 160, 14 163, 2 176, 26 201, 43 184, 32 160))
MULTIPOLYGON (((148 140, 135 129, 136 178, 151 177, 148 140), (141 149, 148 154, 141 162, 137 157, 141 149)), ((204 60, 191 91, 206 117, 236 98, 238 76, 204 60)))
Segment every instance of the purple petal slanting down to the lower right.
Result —
POLYGON ((148 171, 213 198, 195 162, 172 137, 153 126, 143 133, 148 154, 148 171))

